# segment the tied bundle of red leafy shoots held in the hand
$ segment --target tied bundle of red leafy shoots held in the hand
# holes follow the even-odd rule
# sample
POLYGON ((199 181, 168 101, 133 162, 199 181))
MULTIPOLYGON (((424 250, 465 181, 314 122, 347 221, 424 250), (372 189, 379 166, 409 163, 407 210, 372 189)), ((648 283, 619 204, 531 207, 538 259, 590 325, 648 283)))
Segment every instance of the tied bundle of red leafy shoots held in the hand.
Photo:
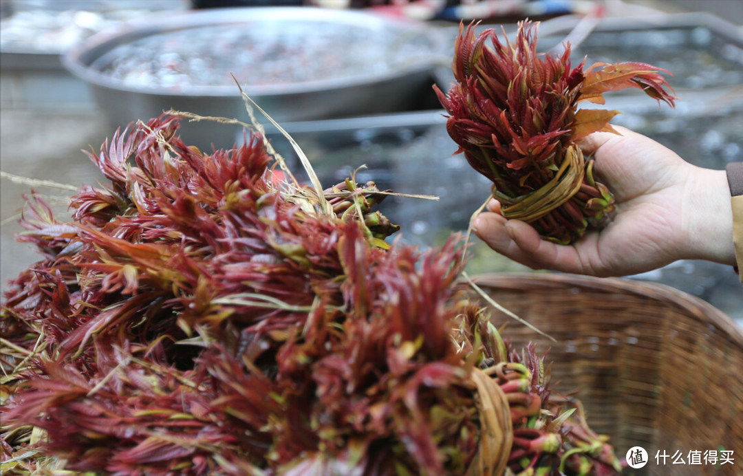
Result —
POLYGON ((578 103, 604 104, 605 92, 634 87, 673 106, 658 73, 667 71, 640 62, 571 69, 570 45, 562 56, 537 53, 538 24, 520 23, 513 43, 490 29, 475 36, 475 26, 466 33, 460 27, 449 93, 434 86, 450 114, 447 130, 470 165, 493 181, 505 218, 569 244, 614 209, 577 143, 593 132, 616 132, 609 121, 619 111, 578 110, 578 103))

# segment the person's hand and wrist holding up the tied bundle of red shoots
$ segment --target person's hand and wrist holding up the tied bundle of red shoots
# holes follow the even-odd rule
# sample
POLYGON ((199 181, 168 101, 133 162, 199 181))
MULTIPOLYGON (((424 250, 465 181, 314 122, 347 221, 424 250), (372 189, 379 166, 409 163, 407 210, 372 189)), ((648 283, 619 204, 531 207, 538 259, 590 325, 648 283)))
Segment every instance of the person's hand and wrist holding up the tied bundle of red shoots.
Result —
POLYGON ((648 137, 614 128, 621 135, 597 132, 580 143, 616 199, 606 227, 563 246, 504 218, 493 199, 473 221, 476 235, 528 267, 592 276, 642 273, 678 259, 735 264, 725 172, 693 166, 648 137))

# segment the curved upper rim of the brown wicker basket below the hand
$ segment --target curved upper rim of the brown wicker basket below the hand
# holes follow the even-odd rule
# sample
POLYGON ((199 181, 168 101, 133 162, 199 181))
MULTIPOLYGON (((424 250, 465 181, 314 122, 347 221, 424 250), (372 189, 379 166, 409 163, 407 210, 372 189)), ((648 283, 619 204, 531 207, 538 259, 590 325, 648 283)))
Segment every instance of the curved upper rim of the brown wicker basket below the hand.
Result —
POLYGON ((730 316, 727 316, 726 313, 707 301, 666 284, 635 281, 629 278, 597 278, 568 273, 484 273, 473 276, 473 281, 479 286, 498 287, 507 290, 536 290, 539 287, 550 287, 552 289, 583 287, 606 293, 649 297, 680 307, 698 322, 716 326, 743 349, 743 327, 736 324, 730 316))

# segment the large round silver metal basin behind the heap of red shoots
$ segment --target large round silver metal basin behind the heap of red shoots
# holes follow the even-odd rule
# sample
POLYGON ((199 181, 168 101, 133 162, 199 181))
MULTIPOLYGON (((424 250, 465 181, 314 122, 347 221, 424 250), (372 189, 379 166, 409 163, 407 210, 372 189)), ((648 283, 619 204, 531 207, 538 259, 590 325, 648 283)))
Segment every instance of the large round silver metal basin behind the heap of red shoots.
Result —
MULTIPOLYGON (((65 68, 91 85, 96 102, 106 113, 112 126, 118 127, 132 120, 156 117, 170 108, 204 116, 237 117, 247 120, 239 89, 230 82, 221 80, 205 84, 201 79, 194 79, 178 85, 156 82, 137 84, 107 72, 107 68, 110 70, 111 65, 120 59, 121 54, 126 53, 128 45, 143 44, 149 39, 151 45, 154 43, 161 51, 167 51, 169 45, 172 45, 172 48, 183 49, 184 44, 191 43, 192 34, 195 37, 198 32, 203 32, 204 28, 210 28, 214 33, 215 27, 219 29, 220 35, 224 33, 228 36, 251 29, 261 32, 273 30, 271 33, 273 36, 291 36, 297 32, 320 33, 333 28, 336 31, 348 32, 351 36, 362 32, 369 40, 363 48, 354 48, 350 43, 338 42, 317 57, 305 58, 305 63, 323 62, 326 60, 325 56, 352 59, 362 55, 365 48, 379 48, 379 45, 383 44, 387 45, 387 48, 390 45, 394 47, 386 51, 389 63, 382 65, 381 68, 370 70, 358 68, 358 71, 345 71, 340 76, 334 76, 333 71, 325 71, 327 74, 320 79, 308 78, 299 81, 290 79, 272 81, 270 84, 256 84, 253 81, 253 84, 244 84, 247 94, 279 121, 403 111, 414 104, 421 94, 428 93, 432 84, 436 37, 423 25, 385 19, 368 13, 315 8, 237 8, 150 16, 92 36, 73 48, 63 58, 62 63, 65 68), (169 39, 169 35, 180 35, 181 39, 169 39), (411 44, 418 45, 422 53, 406 57, 402 61, 395 60, 397 52, 404 45, 411 44)), ((305 35, 306 38, 310 36, 305 35)), ((219 35, 215 38, 219 39, 219 35)), ((207 49, 211 46, 207 45, 207 49)), ((149 47, 149 50, 152 48, 149 47)), ((246 45, 245 50, 248 48, 251 47, 246 45)), ((147 47, 140 49, 148 50, 147 47)), ((214 49, 202 51, 202 59, 209 56, 206 59, 211 60, 212 56, 226 54, 218 49, 218 45, 214 45, 214 49)), ((296 48, 293 53, 296 54, 296 48)), ((235 73, 236 79, 242 82, 244 79, 239 77, 239 71, 236 70, 250 72, 244 68, 262 66, 239 64, 236 53, 233 51, 230 55, 232 56, 226 57, 224 65, 221 65, 221 68, 227 70, 219 72, 222 78, 235 73)), ((281 59, 281 52, 276 53, 276 56, 281 59)), ((294 66, 292 58, 291 54, 283 58, 289 76, 296 73, 291 71, 294 66)), ((189 61, 185 57, 183 60, 189 61)), ((219 67, 210 68, 210 71, 217 68, 219 67)), ((314 68, 322 70, 317 68, 317 65, 314 68)), ((211 144, 218 147, 231 146, 235 140, 235 128, 215 123, 200 123, 198 127, 189 127, 186 124, 183 133, 195 145, 207 148, 210 148, 211 144)))

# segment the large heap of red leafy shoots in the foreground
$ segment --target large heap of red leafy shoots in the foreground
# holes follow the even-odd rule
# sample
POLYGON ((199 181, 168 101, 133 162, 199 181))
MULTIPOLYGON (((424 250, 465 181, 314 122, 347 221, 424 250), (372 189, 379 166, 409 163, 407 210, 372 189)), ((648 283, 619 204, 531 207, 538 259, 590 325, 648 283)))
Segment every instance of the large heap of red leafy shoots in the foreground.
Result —
POLYGON ((89 154, 110 184, 72 222, 27 207, 43 259, 0 314, 4 474, 617 474, 459 284, 458 235, 390 247, 374 183, 317 192, 259 134, 204 154, 178 121, 89 154))

